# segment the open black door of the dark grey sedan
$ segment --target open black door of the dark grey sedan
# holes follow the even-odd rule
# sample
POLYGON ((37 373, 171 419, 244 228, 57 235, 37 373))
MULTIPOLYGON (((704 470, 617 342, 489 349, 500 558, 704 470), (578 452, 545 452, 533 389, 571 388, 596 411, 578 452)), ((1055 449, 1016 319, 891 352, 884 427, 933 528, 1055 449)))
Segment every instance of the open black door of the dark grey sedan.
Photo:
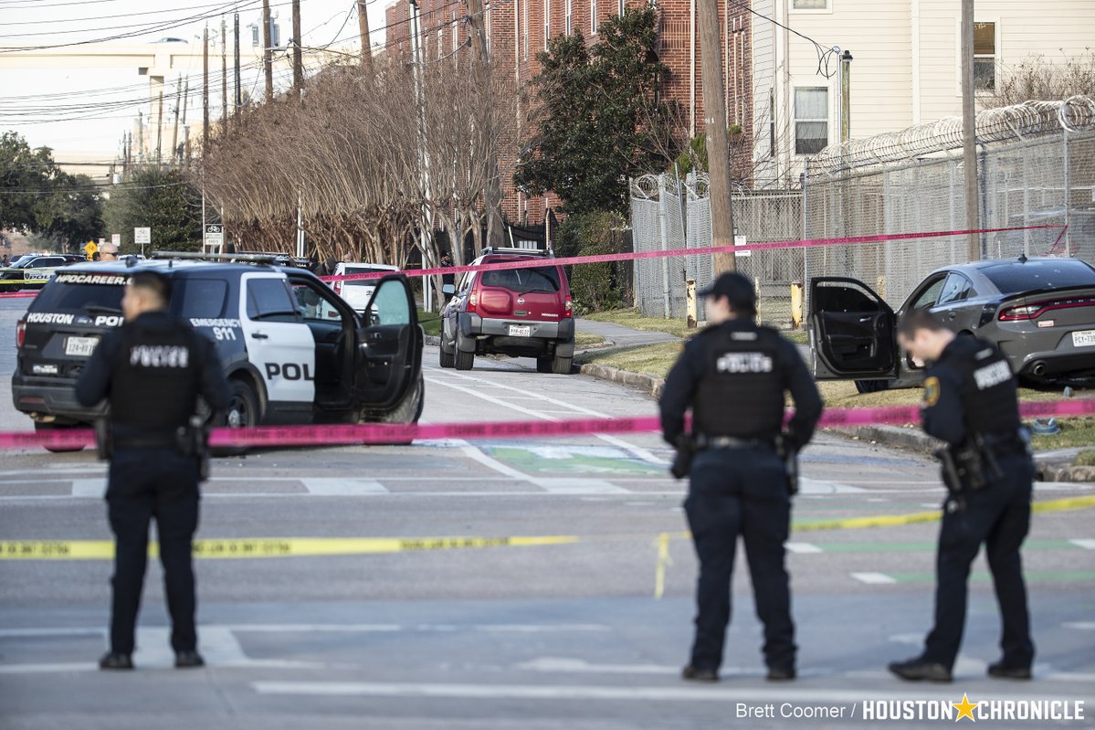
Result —
POLYGON ((863 282, 839 276, 810 280, 809 333, 818 380, 898 375, 897 316, 863 282))

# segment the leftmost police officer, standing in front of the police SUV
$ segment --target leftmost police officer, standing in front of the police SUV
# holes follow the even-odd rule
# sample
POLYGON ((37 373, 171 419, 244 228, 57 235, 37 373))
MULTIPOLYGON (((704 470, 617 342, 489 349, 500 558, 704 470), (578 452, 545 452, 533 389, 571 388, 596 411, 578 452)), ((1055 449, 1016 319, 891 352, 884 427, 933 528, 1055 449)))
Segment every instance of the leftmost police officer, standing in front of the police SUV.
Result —
POLYGON ((110 401, 113 442, 107 514, 115 535, 111 650, 104 670, 132 669, 134 632, 155 517, 165 573, 175 666, 201 666, 194 628, 192 540, 198 523, 200 455, 187 432, 203 397, 214 411, 231 393, 212 343, 166 312, 171 281, 134 273, 122 298, 125 324, 95 347, 76 385, 77 400, 110 401))

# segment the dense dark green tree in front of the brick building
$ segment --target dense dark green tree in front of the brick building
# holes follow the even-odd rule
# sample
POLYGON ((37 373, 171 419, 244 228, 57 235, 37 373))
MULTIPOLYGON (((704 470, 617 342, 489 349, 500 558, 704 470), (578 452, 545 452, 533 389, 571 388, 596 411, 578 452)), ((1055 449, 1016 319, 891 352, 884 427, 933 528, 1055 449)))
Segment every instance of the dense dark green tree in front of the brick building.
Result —
POLYGON ((627 209, 627 178, 661 169, 673 107, 657 99, 668 68, 658 60, 653 8, 604 21, 591 48, 580 33, 538 54, 532 136, 514 175, 529 195, 558 194, 567 214, 627 209))

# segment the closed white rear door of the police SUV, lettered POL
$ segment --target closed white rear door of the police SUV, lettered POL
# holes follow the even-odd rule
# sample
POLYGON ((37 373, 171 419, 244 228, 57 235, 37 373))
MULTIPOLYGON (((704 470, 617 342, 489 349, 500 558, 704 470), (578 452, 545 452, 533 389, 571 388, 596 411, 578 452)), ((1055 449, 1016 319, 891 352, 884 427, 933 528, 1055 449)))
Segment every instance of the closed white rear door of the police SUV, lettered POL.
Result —
POLYGON ((240 281, 240 322, 247 360, 275 403, 311 403, 315 398, 315 341, 297 311, 284 274, 247 273, 240 281))

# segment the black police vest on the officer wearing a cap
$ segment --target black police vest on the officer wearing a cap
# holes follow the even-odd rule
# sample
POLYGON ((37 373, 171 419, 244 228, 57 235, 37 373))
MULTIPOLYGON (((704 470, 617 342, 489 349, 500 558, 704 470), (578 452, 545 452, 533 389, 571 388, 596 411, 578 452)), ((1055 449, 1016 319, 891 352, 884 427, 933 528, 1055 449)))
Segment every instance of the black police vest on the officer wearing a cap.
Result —
POLYGON ((721 327, 707 338, 703 379, 692 404, 693 432, 774 438, 783 426, 780 335, 758 327, 721 327))

